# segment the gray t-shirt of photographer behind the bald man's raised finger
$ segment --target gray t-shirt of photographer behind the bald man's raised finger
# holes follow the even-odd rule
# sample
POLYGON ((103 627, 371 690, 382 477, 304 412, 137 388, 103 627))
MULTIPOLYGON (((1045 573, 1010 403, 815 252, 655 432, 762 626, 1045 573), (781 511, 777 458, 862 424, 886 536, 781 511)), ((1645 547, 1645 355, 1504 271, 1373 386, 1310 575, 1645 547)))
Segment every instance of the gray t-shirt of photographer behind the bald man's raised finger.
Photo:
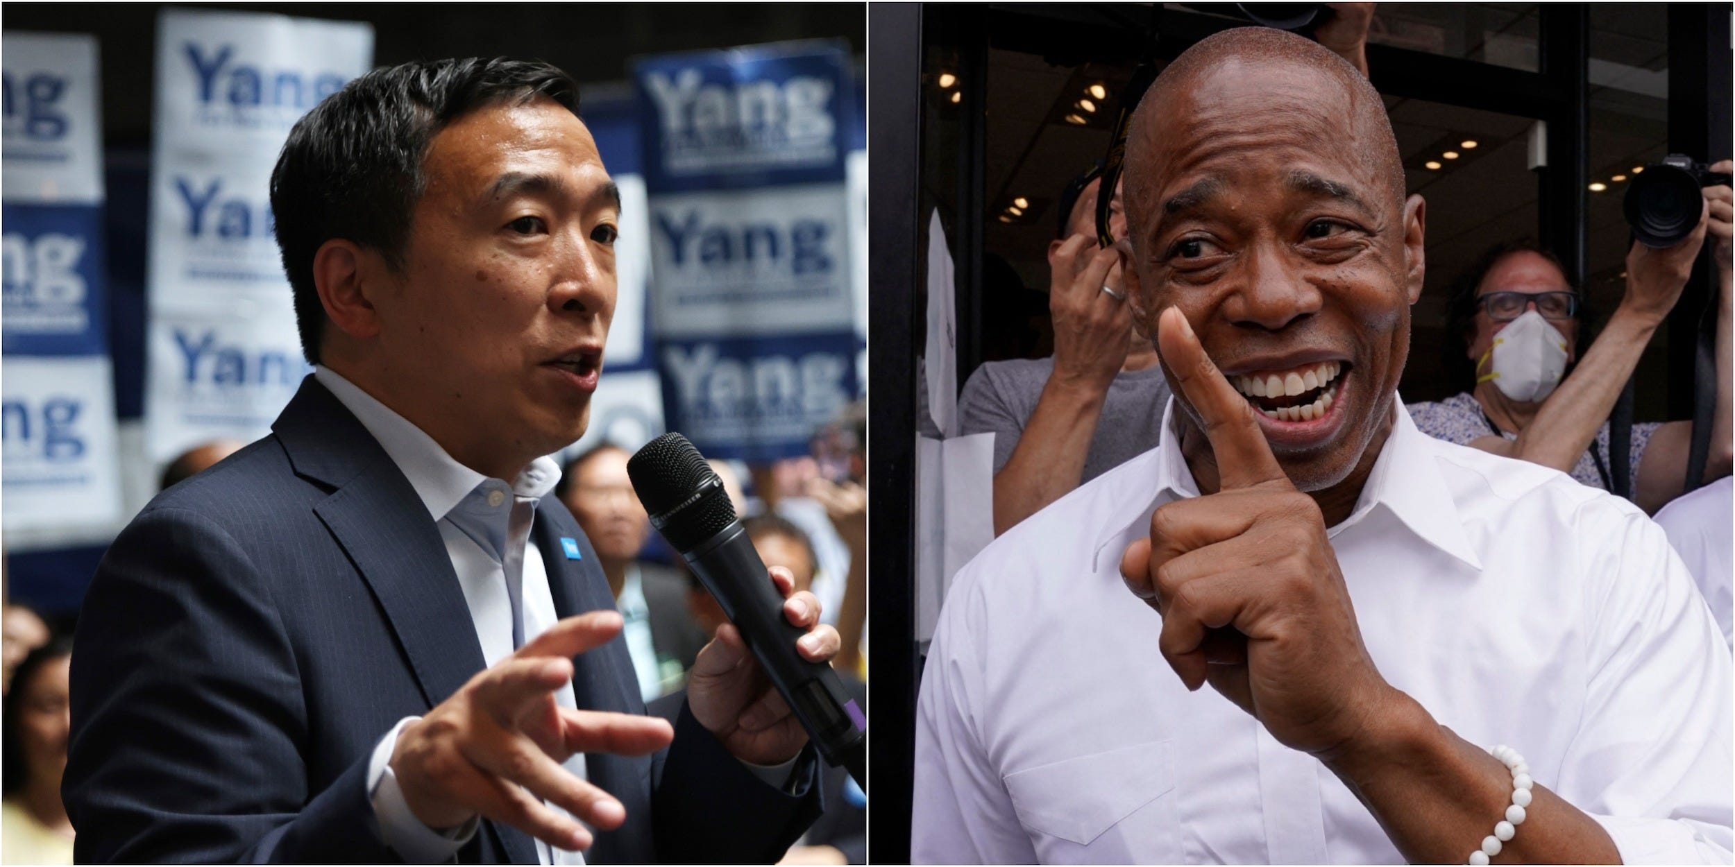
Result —
MULTIPOLYGON (((994 472, 998 473, 1024 435, 1024 425, 1043 397, 1055 359, 991 361, 977 368, 958 397, 958 425, 963 434, 994 434, 994 472)), ((1169 383, 1162 366, 1121 373, 1109 385, 1097 420, 1097 434, 1084 456, 1079 484, 1157 447, 1162 409, 1169 402, 1169 383)))

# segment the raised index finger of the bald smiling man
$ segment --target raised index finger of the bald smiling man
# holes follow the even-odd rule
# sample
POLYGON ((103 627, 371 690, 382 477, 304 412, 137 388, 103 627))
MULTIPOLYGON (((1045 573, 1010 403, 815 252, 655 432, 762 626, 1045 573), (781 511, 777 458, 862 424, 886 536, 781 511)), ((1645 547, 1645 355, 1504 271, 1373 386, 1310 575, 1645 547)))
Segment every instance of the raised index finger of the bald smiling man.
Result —
POLYGON ((1270 442, 1265 442, 1253 404, 1216 369, 1178 307, 1162 310, 1157 319, 1157 347, 1182 395, 1204 421, 1204 434, 1216 456, 1220 487, 1228 491, 1270 482, 1287 486, 1289 477, 1272 454, 1270 442))

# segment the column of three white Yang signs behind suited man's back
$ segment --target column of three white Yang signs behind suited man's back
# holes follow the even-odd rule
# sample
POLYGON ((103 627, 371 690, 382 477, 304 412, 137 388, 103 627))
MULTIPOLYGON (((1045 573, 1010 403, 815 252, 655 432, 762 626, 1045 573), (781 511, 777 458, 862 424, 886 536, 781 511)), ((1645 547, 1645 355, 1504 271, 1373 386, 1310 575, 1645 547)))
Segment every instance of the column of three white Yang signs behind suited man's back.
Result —
POLYGON ((309 373, 276 243, 290 128, 364 73, 373 28, 170 9, 156 45, 147 453, 255 439, 309 373))

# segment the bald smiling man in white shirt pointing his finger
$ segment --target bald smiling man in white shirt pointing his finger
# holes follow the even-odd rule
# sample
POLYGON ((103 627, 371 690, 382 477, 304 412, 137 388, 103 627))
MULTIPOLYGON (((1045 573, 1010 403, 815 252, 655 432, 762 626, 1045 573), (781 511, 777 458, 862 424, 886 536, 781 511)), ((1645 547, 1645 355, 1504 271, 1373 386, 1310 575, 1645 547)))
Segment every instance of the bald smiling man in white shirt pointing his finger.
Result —
POLYGON ((958 574, 913 858, 1730 864, 1730 655, 1662 531, 1397 397, 1424 205, 1379 94, 1211 36, 1126 196, 1164 435, 958 574))

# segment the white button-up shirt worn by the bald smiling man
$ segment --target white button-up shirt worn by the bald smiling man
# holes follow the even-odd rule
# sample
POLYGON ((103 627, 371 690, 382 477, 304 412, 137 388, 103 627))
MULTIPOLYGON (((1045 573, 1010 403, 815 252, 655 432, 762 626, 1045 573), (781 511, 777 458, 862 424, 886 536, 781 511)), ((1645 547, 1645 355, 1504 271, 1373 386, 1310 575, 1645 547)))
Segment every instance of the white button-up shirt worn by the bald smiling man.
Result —
MULTIPOLYGON (((1516 747, 1627 864, 1730 864, 1730 655, 1662 531, 1395 411, 1329 529, 1379 673, 1459 737, 1516 747)), ((1119 564, 1156 506, 1197 496, 1173 420, 1171 401, 1157 449, 958 572, 918 707, 916 864, 1404 860, 1324 765, 1162 661, 1119 564)))

